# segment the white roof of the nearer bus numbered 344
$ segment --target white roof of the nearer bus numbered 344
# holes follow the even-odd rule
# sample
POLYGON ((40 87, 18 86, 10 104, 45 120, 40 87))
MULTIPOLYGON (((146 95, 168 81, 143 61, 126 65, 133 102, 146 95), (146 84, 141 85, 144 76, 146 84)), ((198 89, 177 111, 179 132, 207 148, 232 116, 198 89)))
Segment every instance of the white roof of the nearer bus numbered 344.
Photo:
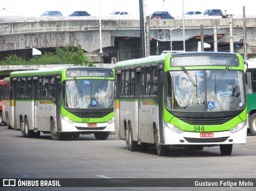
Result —
POLYGON ((122 68, 122 67, 132 67, 136 65, 145 65, 150 63, 158 63, 164 61, 166 57, 168 56, 196 56, 196 55, 219 55, 219 56, 237 56, 237 53, 226 53, 226 52, 177 52, 177 53, 170 53, 170 54, 163 54, 159 56, 150 56, 147 58, 140 58, 140 59, 132 59, 132 60, 126 60, 126 61, 120 61, 116 63, 116 68, 122 68))

